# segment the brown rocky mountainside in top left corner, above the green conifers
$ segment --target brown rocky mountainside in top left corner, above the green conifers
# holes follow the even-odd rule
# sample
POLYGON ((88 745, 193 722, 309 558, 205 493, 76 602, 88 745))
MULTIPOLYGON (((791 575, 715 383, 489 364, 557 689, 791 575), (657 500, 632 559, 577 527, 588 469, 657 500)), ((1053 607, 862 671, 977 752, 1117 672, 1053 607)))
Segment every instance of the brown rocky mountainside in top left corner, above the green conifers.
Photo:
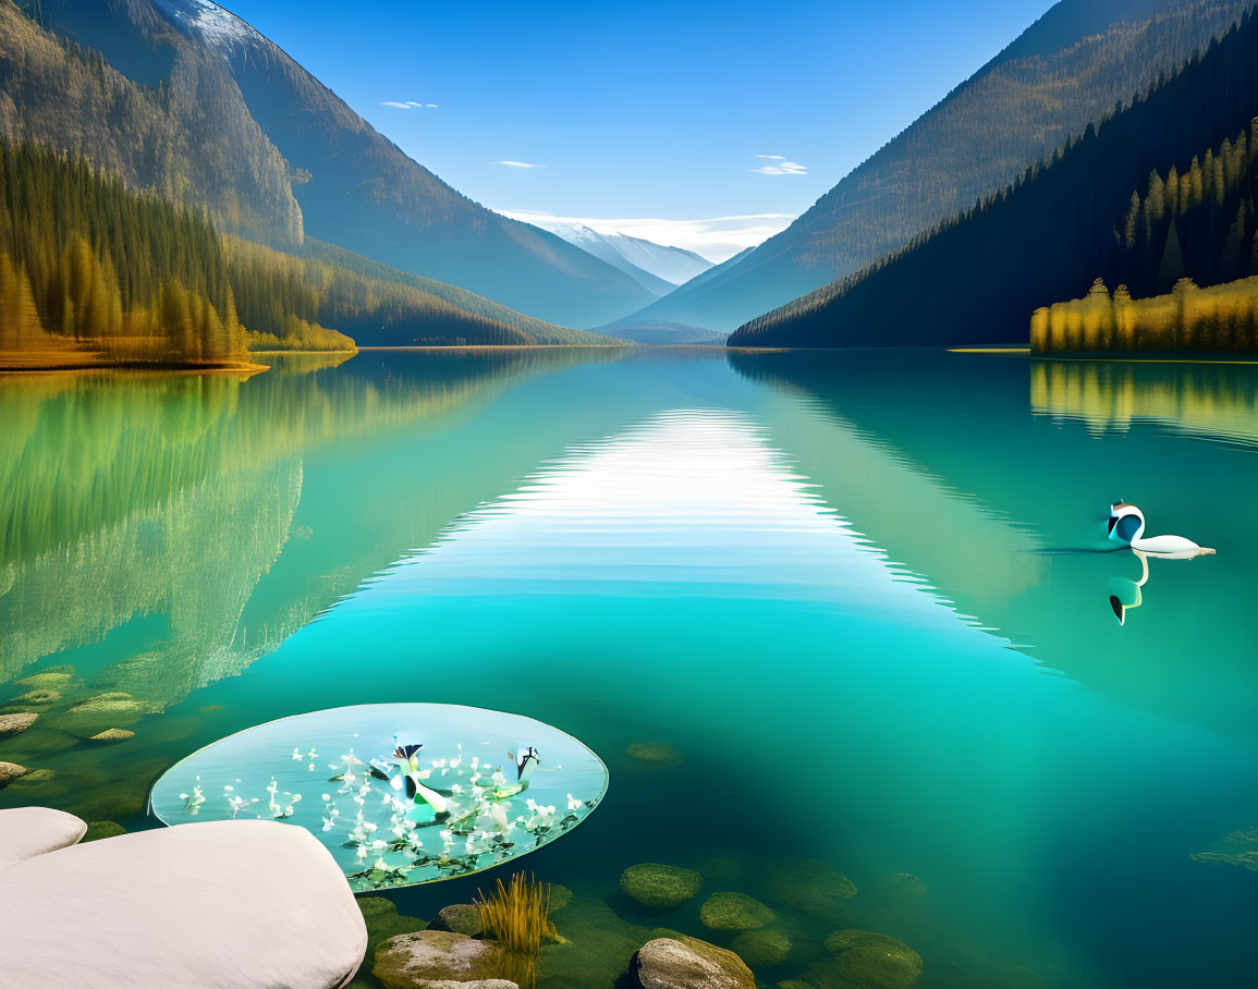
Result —
MULTIPOLYGON (((99 4, 101 11, 114 6, 99 4)), ((138 16, 142 6, 133 6, 138 16)), ((102 21, 109 23, 103 14, 102 21)), ((156 14, 148 28, 165 39, 151 53, 156 62, 161 52, 162 62, 150 73, 161 75, 152 86, 0 0, 0 140, 83 152, 128 186, 205 208, 228 229, 299 243, 302 214, 288 165, 237 87, 156 14)))

